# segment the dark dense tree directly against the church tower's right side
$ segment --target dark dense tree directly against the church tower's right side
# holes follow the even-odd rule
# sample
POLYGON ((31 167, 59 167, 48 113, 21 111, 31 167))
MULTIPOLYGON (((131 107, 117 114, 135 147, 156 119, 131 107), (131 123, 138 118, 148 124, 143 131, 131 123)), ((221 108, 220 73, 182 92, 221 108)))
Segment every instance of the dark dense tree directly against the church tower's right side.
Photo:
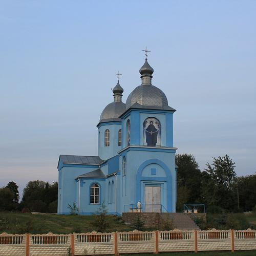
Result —
POLYGON ((195 157, 183 153, 176 155, 177 170, 177 210, 184 203, 201 202, 201 172, 195 157))

